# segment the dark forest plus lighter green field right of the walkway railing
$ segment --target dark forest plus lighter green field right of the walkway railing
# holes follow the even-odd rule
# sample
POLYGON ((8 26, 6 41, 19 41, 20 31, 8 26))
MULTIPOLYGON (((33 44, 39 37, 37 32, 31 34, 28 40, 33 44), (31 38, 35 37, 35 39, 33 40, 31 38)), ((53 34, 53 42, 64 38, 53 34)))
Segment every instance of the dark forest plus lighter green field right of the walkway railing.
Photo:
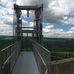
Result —
POLYGON ((44 46, 51 51, 52 60, 74 57, 74 39, 46 39, 44 46))

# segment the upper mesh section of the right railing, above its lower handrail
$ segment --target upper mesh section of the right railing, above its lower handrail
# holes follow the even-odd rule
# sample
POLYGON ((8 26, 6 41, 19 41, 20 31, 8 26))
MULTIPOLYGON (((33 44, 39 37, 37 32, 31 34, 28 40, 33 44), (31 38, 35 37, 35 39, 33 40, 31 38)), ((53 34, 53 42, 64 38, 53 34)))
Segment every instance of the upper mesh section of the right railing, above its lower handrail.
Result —
POLYGON ((43 60, 48 63, 50 59, 50 51, 47 50, 45 47, 40 45, 37 42, 34 42, 35 49, 39 52, 39 54, 42 56, 43 60))

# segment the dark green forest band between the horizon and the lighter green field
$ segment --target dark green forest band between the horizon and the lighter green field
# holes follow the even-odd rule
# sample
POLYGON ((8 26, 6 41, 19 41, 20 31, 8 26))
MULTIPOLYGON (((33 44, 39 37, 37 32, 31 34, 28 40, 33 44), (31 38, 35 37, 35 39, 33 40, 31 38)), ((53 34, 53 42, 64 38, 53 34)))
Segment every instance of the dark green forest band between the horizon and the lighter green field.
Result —
POLYGON ((50 51, 74 51, 74 39, 48 39, 47 41, 44 41, 44 46, 50 51))

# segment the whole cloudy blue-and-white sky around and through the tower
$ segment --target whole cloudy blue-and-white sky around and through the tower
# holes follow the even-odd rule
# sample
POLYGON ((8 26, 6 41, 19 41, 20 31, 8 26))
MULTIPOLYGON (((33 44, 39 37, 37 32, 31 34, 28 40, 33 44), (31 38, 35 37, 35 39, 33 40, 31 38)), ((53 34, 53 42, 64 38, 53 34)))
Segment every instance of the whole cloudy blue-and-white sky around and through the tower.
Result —
MULTIPOLYGON (((44 37, 74 38, 74 0, 0 0, 0 35, 13 34, 13 4, 44 5, 44 37)), ((33 26, 33 13, 26 18, 22 11, 23 26, 33 26), (29 25, 28 25, 29 24, 29 25)))

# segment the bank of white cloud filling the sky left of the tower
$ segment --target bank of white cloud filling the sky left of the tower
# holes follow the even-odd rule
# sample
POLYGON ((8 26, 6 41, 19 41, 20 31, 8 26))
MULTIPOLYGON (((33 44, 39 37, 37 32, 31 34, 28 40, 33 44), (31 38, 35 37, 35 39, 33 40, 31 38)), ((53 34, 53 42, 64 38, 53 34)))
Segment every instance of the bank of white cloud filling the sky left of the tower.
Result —
POLYGON ((13 0, 1 0, 0 35, 13 34, 13 0))

